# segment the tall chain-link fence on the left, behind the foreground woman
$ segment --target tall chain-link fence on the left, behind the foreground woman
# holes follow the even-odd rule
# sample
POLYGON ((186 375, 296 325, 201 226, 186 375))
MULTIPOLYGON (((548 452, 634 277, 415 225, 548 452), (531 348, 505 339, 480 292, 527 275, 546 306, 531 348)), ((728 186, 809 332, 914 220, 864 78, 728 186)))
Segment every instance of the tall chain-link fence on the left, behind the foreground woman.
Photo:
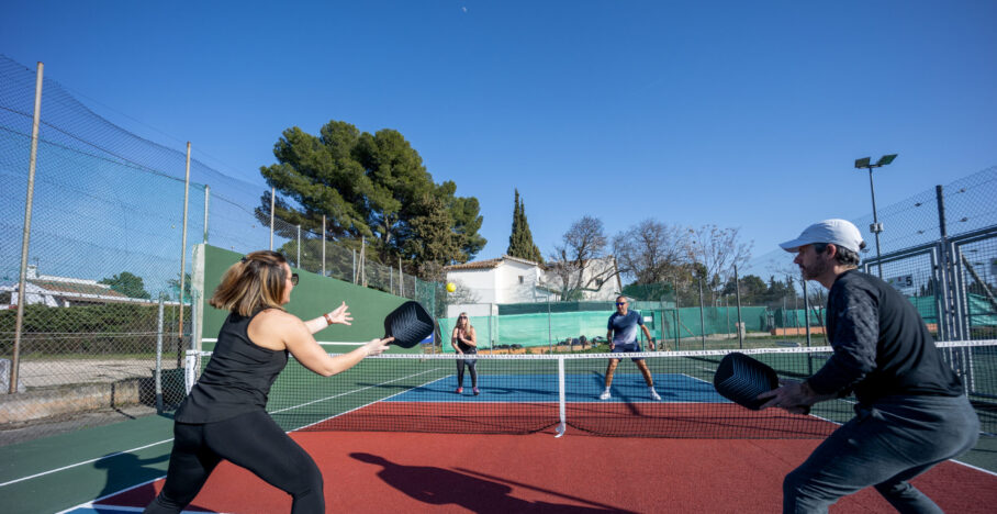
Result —
POLYGON ((445 312, 441 284, 361 256, 363 242, 276 216, 271 231, 268 188, 197 158, 188 185, 187 152, 110 123, 45 79, 15 351, 35 81, 0 56, 0 445, 176 409, 191 304, 204 294, 191 289, 199 243, 273 248, 306 271, 445 312))

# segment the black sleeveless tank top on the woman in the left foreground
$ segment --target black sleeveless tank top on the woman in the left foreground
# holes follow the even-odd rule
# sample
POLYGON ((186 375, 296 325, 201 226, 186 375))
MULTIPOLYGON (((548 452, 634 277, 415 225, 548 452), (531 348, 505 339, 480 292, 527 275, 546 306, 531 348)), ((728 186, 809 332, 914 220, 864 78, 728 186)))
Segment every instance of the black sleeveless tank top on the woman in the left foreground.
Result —
POLYGON ((288 364, 288 350, 267 349, 249 340, 249 322, 257 314, 228 315, 211 360, 173 420, 211 423, 267 407, 270 386, 288 364))

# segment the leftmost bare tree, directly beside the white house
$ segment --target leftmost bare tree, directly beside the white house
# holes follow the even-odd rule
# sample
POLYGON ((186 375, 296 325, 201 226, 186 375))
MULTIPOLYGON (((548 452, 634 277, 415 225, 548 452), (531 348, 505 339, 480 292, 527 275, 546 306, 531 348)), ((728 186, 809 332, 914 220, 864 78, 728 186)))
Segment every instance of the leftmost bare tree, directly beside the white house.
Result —
POLYGON ((578 300, 582 291, 598 290, 619 275, 615 259, 606 255, 608 243, 601 220, 584 216, 571 224, 547 264, 553 278, 549 287, 560 291, 561 300, 578 300))

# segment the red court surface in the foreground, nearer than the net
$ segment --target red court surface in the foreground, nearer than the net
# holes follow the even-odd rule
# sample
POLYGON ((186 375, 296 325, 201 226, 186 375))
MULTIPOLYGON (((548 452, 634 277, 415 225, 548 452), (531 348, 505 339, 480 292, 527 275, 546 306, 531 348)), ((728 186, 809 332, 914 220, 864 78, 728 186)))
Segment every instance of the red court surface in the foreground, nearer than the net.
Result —
MULTIPOLYGON (((295 433, 325 478, 328 512, 780 512, 782 478, 817 439, 663 439, 551 434, 295 433)), ((945 512, 994 512, 997 476, 943 462, 915 480, 945 512)), ((144 506, 163 481, 94 502, 144 506)), ((224 462, 191 510, 289 512, 224 462)), ((894 512, 872 489, 836 513, 894 512)))

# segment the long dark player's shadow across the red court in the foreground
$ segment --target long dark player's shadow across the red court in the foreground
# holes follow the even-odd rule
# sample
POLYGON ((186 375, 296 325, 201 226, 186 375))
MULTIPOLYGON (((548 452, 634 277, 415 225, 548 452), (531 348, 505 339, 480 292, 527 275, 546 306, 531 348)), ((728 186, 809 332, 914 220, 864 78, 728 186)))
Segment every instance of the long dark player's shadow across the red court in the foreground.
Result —
MULTIPOLYGON (((553 491, 537 489, 527 484, 516 484, 560 495, 565 503, 544 501, 531 502, 511 495, 513 488, 494 477, 489 479, 473 477, 469 472, 451 471, 432 466, 404 466, 394 463, 372 454, 352 452, 350 457, 380 466, 378 477, 388 485, 405 493, 410 498, 429 505, 459 505, 471 512, 507 513, 507 512, 545 512, 545 513, 606 513, 632 512, 609 505, 603 505, 575 496, 565 496, 553 491)), ((503 480, 504 481, 504 480, 503 480)), ((515 483, 515 482, 508 482, 515 483)))

